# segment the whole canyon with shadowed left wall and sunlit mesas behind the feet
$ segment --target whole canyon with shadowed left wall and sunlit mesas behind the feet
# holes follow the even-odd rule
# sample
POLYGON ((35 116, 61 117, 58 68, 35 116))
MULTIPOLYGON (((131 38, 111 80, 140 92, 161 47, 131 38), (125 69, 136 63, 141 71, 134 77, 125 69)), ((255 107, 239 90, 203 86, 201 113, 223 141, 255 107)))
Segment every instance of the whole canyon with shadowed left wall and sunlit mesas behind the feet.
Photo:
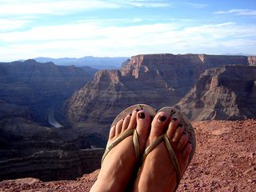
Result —
POLYGON ((0 179, 98 169, 111 122, 137 103, 175 106, 192 121, 255 118, 255 83, 254 56, 144 54, 120 70, 0 63, 0 179))

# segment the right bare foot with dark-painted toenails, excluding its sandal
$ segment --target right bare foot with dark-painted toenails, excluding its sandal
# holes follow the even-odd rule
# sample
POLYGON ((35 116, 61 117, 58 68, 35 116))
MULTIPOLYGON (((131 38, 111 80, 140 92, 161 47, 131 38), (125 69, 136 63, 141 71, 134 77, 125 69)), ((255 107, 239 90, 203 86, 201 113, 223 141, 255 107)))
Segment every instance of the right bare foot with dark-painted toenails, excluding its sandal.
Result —
MULTIPOLYGON (((146 146, 150 146, 150 143, 166 133, 178 159, 182 175, 188 165, 192 145, 189 142, 189 135, 185 132, 179 119, 175 117, 170 119, 169 117, 164 111, 154 117, 146 146)), ((146 156, 134 183, 134 191, 174 191, 177 181, 170 154, 165 142, 162 141, 146 156)))

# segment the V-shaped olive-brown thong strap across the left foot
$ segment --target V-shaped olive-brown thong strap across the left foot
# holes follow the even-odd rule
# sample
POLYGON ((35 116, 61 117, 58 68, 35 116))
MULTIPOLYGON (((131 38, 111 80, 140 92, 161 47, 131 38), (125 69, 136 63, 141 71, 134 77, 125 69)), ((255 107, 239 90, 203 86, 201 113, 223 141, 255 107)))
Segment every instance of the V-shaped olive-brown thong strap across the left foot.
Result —
POLYGON ((102 156, 102 162, 106 158, 106 155, 112 150, 115 146, 118 145, 119 142, 122 142, 125 138, 128 138, 130 135, 133 134, 133 142, 134 142, 134 151, 135 151, 135 157, 136 160, 139 158, 139 143, 138 143, 138 133, 137 130, 125 130, 114 140, 114 142, 111 142, 110 145, 106 146, 106 150, 102 156))

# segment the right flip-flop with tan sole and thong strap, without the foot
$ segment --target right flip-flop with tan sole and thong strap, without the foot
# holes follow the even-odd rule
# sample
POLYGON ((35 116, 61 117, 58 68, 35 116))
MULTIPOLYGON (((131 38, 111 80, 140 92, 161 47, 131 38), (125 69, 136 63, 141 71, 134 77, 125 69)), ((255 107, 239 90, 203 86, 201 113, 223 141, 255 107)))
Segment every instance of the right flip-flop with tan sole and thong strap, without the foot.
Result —
MULTIPOLYGON (((161 110, 158 110, 158 113, 160 111, 164 111, 164 112, 166 112, 166 114, 169 114, 170 118, 177 117, 179 119, 180 123, 185 127, 186 133, 189 134, 189 142, 191 142, 191 144, 192 144, 192 151, 190 153, 189 162, 187 164, 187 166, 188 166, 190 164, 192 158, 193 158, 194 150, 195 150, 195 146, 196 146, 196 139, 195 139, 194 129, 193 129, 191 123, 190 123, 190 120, 186 117, 185 114, 182 114, 181 111, 179 111, 179 110, 177 110, 177 109, 175 109, 173 107, 170 107, 170 106, 163 107, 161 110)), ((154 148, 156 146, 158 146, 158 144, 160 142, 162 142, 162 141, 165 142, 166 148, 167 148, 167 150, 168 150, 168 152, 170 154, 170 160, 171 160, 171 162, 174 165, 174 170, 176 172, 176 177, 177 177, 177 184, 176 184, 175 190, 177 190, 178 184, 179 184, 179 182, 180 182, 180 180, 182 178, 182 175, 181 175, 181 170, 180 170, 180 166, 179 166, 179 163, 178 163, 178 159, 177 159, 177 157, 176 157, 176 155, 174 153, 174 149, 171 146, 170 141, 167 138, 166 134, 160 135, 156 140, 154 140, 154 142, 152 142, 150 144, 150 146, 148 146, 146 148, 146 150, 145 150, 145 152, 144 152, 144 154, 142 156, 142 162, 144 162, 146 156, 148 154, 150 154, 150 152, 152 150, 154 150, 154 148)))

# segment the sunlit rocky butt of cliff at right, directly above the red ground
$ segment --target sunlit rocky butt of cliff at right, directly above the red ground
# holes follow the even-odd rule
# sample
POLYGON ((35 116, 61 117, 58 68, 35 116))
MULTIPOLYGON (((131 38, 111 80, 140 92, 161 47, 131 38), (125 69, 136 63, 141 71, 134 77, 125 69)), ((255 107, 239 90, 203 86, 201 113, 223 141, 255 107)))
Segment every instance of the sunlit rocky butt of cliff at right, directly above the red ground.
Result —
POLYGON ((196 121, 255 118, 256 67, 206 70, 177 106, 196 121))

